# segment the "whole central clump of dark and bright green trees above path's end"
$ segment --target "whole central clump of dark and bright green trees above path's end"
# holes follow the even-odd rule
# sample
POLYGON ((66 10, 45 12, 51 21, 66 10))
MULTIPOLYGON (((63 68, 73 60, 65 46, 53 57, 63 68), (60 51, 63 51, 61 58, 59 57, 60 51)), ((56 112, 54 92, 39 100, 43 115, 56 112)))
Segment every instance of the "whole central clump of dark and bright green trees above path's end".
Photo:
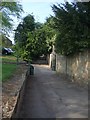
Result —
POLYGON ((28 15, 18 25, 15 41, 18 43, 20 55, 23 59, 37 59, 42 54, 50 53, 54 30, 48 25, 51 21, 48 20, 49 18, 44 24, 41 24, 35 22, 33 15, 28 15))

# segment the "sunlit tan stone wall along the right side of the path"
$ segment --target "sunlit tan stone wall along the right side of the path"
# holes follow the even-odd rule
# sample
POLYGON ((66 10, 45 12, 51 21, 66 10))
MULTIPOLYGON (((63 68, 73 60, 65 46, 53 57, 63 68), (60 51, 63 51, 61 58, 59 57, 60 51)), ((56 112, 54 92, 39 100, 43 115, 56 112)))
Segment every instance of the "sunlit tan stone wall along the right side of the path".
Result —
POLYGON ((68 57, 56 54, 56 71, 71 76, 72 81, 87 85, 90 80, 90 51, 68 57))

